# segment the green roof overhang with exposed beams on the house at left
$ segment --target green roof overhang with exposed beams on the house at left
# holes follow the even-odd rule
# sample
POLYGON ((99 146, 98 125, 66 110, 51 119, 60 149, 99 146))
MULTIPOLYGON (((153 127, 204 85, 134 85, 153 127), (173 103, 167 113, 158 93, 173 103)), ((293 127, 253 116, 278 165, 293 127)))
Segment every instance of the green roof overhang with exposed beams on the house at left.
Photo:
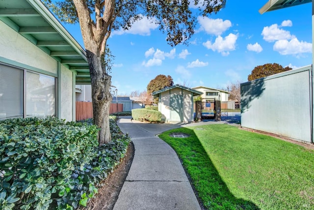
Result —
POLYGON ((85 50, 40 0, 0 0, 0 10, 0 21, 76 71, 76 84, 90 84, 85 50))

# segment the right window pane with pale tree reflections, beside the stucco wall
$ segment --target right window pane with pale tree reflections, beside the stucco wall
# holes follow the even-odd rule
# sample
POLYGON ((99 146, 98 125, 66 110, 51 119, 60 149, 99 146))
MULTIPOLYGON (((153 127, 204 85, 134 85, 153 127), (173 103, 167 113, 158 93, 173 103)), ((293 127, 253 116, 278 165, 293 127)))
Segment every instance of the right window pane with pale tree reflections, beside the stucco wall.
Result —
POLYGON ((46 117, 55 114, 55 79, 26 72, 26 117, 46 117))

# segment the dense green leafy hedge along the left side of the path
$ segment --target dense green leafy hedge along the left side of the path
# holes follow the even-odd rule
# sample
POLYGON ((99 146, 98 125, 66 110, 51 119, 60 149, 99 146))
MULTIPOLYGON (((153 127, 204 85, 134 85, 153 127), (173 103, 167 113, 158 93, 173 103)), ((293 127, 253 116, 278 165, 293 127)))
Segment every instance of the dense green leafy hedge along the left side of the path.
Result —
POLYGON ((98 147, 87 123, 57 118, 0 121, 0 209, 76 209, 124 157, 130 138, 110 120, 112 142, 98 147))

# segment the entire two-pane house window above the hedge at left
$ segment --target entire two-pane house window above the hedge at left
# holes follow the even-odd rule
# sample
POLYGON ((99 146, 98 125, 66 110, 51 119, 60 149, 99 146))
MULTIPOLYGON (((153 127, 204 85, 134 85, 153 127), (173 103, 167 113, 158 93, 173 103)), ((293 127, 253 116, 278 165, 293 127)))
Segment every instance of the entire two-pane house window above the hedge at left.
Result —
POLYGON ((55 78, 0 64, 0 119, 55 115, 55 78))

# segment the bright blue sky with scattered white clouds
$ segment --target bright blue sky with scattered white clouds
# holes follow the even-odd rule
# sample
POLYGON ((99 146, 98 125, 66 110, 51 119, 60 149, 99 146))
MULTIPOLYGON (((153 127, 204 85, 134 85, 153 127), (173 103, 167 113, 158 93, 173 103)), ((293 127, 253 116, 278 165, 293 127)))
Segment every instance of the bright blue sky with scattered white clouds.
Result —
MULTIPOLYGON (((130 31, 114 31, 112 85, 118 95, 142 92, 157 75, 188 87, 226 87, 247 81, 258 65, 298 68, 312 64, 312 4, 266 12, 267 0, 227 0, 226 7, 199 17, 189 45, 171 47, 158 26, 142 19, 130 31)), ((83 45, 78 25, 64 25, 83 45)))

